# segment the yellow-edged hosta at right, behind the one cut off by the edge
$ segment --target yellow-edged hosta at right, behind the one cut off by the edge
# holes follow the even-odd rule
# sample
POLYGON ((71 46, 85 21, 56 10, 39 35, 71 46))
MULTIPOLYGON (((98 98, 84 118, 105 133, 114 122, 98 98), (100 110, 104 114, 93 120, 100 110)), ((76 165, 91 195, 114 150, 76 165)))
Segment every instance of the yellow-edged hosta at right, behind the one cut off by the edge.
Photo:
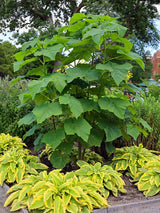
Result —
POLYGON ((112 159, 112 166, 116 171, 127 172, 134 178, 138 168, 158 157, 152 151, 143 148, 143 145, 117 148, 112 159))

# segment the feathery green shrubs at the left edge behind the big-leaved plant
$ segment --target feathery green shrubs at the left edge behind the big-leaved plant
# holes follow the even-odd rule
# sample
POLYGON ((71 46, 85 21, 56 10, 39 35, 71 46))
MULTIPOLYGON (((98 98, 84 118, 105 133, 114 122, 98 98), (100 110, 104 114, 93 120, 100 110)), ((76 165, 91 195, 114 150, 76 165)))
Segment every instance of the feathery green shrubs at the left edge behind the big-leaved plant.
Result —
POLYGON ((22 108, 19 95, 27 90, 27 81, 19 81, 12 85, 8 77, 0 79, 0 133, 9 133, 12 136, 22 136, 32 126, 18 127, 18 120, 32 110, 34 104, 26 104, 22 108))

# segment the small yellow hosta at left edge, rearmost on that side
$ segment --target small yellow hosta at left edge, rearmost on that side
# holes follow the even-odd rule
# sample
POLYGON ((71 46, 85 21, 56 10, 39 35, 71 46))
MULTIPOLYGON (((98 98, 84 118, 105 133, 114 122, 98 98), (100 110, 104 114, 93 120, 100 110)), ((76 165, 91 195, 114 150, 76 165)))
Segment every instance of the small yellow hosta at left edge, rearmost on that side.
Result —
POLYGON ((23 148, 23 146, 26 146, 22 139, 19 137, 12 137, 9 134, 0 134, 0 155, 4 154, 9 149, 15 147, 15 148, 23 148))

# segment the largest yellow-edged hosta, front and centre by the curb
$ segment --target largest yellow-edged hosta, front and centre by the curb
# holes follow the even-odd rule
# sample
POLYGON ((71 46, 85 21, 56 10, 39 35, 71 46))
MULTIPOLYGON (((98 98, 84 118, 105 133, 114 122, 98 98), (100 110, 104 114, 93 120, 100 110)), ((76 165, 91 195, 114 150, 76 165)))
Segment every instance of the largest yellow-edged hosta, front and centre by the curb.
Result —
POLYGON ((14 185, 4 206, 12 203, 11 211, 21 208, 42 210, 44 213, 89 213, 93 208, 108 206, 101 195, 100 184, 79 180, 74 172, 64 175, 60 170, 30 175, 14 185))

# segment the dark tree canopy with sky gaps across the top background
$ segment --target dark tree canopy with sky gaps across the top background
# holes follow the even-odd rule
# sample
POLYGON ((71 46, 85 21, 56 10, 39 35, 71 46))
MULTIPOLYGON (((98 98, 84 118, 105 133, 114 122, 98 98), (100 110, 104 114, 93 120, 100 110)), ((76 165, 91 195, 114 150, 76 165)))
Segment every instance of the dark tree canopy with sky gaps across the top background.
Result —
POLYGON ((41 30, 68 23, 77 12, 119 16, 119 20, 143 43, 157 45, 159 35, 153 19, 157 17, 158 0, 0 0, 1 31, 21 27, 41 30))

